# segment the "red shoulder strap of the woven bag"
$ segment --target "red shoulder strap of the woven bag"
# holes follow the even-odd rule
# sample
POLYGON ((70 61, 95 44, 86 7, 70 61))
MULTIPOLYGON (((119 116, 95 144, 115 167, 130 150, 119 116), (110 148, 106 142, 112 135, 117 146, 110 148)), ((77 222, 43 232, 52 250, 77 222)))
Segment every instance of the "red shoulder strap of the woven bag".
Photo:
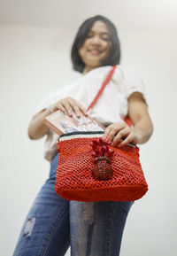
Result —
MULTIPOLYGON (((107 76, 106 76, 106 78, 105 78, 105 80, 104 80, 104 82, 103 82, 101 88, 100 88, 100 89, 98 90, 98 92, 96 93, 96 97, 93 99, 93 101, 90 103, 89 107, 87 108, 87 111, 89 111, 89 109, 92 108, 93 105, 96 104, 96 101, 97 101, 98 97, 100 97, 101 93, 103 92, 103 90, 104 90, 106 84, 112 79, 112 75, 113 75, 113 73, 114 73, 115 68, 116 68, 116 65, 112 66, 111 71, 109 72, 109 74, 107 74, 107 76)), ((127 123, 127 125, 128 125, 129 127, 131 127, 131 125, 132 125, 131 120, 130 120, 128 117, 126 117, 124 120, 125 120, 125 122, 127 123)))

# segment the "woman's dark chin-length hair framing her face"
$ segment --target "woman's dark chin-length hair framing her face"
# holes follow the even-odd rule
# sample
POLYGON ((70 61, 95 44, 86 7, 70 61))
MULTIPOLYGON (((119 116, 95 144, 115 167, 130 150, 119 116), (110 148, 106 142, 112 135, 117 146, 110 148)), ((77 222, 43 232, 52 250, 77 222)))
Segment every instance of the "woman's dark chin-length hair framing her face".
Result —
POLYGON ((92 18, 86 19, 79 27, 77 35, 73 41, 73 46, 71 50, 71 58, 73 62, 73 69, 82 73, 85 64, 81 60, 79 55, 79 49, 81 48, 82 44, 84 43, 87 35, 89 34, 90 28, 93 26, 96 20, 102 20, 111 35, 112 47, 110 49, 110 54, 107 58, 102 60, 101 66, 113 66, 119 64, 120 61, 120 43, 119 37, 117 33, 117 29, 112 23, 110 19, 105 18, 102 15, 96 15, 92 18))

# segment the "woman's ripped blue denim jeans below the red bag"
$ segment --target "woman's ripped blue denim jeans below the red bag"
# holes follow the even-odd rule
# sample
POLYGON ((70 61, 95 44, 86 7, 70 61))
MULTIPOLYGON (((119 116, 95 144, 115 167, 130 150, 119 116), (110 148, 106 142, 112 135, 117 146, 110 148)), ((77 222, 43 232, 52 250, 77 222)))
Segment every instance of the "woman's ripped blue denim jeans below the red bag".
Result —
POLYGON ((119 256, 131 202, 68 201, 55 192, 58 154, 31 206, 13 256, 119 256))

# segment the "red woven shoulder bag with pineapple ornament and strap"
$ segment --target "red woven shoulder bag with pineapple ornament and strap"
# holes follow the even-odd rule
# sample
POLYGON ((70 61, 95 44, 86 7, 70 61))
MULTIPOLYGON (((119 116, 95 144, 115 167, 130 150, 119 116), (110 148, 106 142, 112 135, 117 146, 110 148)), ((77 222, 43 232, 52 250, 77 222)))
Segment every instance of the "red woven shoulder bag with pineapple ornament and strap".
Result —
MULTIPOLYGON (((92 107, 116 66, 106 77, 92 107)), ((88 108, 88 110, 89 110, 88 108)), ((131 121, 125 121, 131 126, 131 121)), ((139 160, 139 148, 128 144, 112 147, 103 131, 73 132, 59 137, 55 190, 59 196, 76 201, 134 201, 148 190, 139 160)))

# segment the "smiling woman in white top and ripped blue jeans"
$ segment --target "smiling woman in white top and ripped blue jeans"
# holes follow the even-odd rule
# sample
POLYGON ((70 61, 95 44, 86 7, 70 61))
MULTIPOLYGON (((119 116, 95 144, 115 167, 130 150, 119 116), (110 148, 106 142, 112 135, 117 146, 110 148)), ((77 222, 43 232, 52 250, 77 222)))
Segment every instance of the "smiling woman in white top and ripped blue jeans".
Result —
POLYGON ((13 256, 62 256, 71 245, 72 256, 118 256, 131 202, 78 202, 60 198, 55 192, 58 165, 57 139, 42 120, 58 109, 69 116, 83 113, 106 128, 104 139, 113 146, 146 143, 153 125, 142 78, 119 64, 120 46, 116 28, 109 19, 97 15, 83 22, 72 48, 73 69, 81 78, 46 97, 31 120, 31 139, 46 138, 45 158, 50 160, 49 179, 35 198, 19 235, 13 256), (112 80, 89 112, 86 108, 96 96, 112 66, 112 80), (128 115, 133 127, 124 121, 128 115), (120 142, 122 136, 126 139, 120 142))

